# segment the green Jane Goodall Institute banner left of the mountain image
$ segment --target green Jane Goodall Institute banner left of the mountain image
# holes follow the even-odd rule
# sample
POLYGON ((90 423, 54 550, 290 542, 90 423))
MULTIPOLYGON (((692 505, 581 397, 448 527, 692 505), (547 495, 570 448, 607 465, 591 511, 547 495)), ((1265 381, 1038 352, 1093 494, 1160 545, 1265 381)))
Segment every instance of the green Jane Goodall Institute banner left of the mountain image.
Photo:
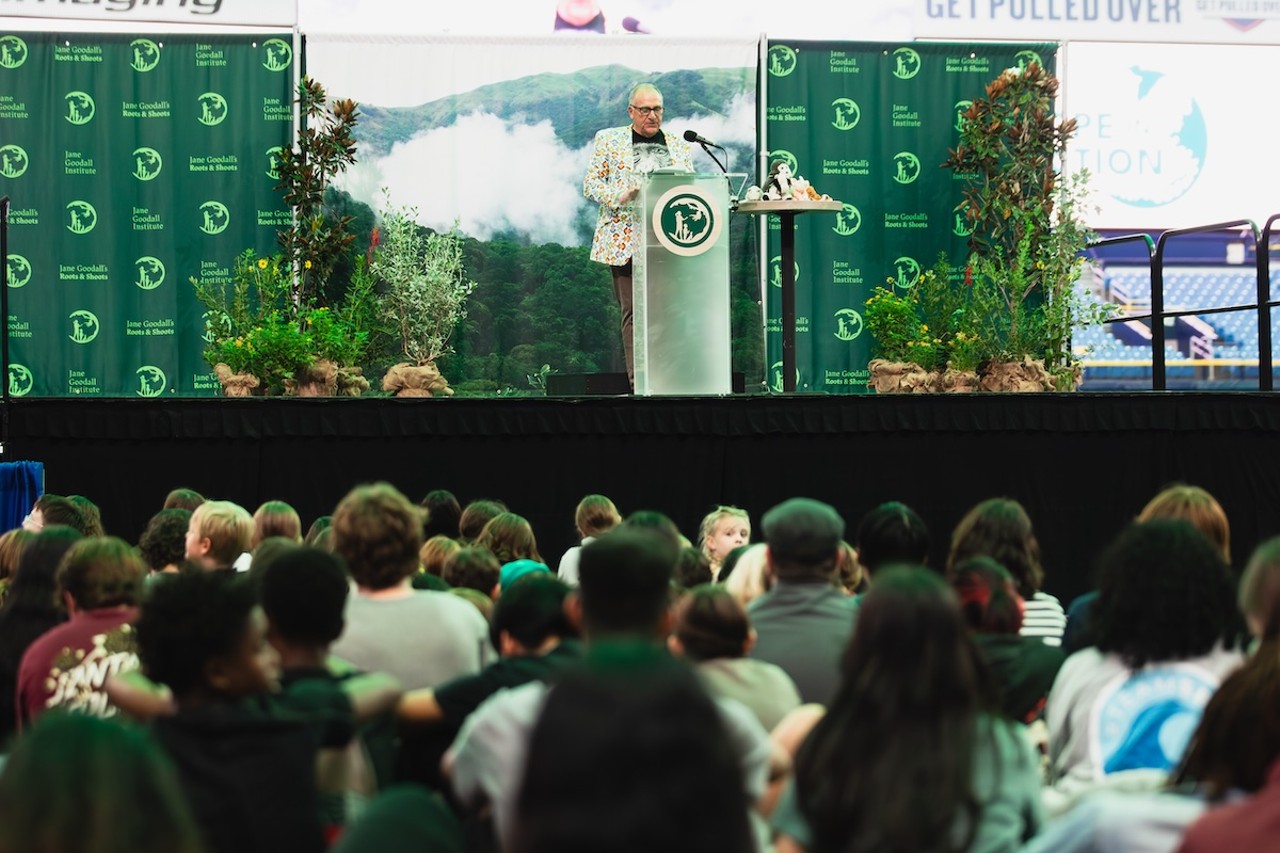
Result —
POLYGON ((219 393, 191 278, 274 252, 288 36, 0 36, 14 396, 219 393))

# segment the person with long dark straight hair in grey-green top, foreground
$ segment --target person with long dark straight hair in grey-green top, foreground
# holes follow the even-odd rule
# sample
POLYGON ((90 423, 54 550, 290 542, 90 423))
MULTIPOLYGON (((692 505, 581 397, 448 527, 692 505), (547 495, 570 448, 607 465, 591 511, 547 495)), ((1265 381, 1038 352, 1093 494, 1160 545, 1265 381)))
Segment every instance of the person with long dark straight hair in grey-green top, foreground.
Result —
POLYGON ((1042 821, 1039 762, 996 712, 946 581, 882 570, 773 815, 776 849, 1015 850, 1042 821))

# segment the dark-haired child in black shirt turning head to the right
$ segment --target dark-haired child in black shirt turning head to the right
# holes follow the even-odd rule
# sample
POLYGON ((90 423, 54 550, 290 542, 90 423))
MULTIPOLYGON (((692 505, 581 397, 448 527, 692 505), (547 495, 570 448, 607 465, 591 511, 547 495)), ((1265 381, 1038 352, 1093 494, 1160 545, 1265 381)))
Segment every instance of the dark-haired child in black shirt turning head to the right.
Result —
POLYGON ((137 640, 147 678, 177 704, 152 731, 178 767, 207 852, 323 850, 316 754, 351 739, 351 702, 325 684, 291 692, 288 704, 273 695, 280 658, 251 579, 166 578, 143 602, 137 640))

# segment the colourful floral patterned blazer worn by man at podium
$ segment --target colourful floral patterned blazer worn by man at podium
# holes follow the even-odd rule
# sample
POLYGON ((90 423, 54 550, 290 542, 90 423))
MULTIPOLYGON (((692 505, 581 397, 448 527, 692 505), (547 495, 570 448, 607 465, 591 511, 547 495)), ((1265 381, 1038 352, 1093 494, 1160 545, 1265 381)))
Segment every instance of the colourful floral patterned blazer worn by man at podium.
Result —
MULTIPOLYGON (((662 133, 667 137, 671 165, 676 169, 692 172, 692 146, 675 133, 668 131, 662 131, 662 133)), ((631 188, 632 172, 635 172, 635 160, 631 147, 631 126, 611 127, 596 133, 591 164, 582 179, 582 195, 600 205, 600 213, 595 220, 595 238, 591 241, 591 260, 594 261, 621 266, 635 254, 635 202, 620 204, 618 201, 631 188)))

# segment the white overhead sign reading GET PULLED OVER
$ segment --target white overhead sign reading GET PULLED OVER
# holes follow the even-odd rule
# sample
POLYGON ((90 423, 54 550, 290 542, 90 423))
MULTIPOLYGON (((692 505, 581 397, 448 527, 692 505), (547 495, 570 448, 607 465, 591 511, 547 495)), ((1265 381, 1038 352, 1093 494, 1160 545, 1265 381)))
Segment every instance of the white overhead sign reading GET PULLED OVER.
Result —
POLYGON ((916 38, 1280 44, 1280 0, 913 0, 916 38))

